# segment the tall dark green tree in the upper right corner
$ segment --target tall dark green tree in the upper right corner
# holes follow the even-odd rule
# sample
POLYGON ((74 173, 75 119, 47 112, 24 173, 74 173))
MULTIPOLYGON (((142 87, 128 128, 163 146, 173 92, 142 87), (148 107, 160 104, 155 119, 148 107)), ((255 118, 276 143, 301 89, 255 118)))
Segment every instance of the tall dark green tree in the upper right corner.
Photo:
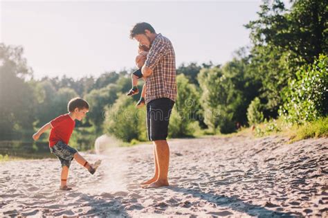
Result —
POLYGON ((250 69, 262 81, 264 115, 275 117, 298 68, 327 53, 327 3, 294 1, 287 11, 282 1, 264 1, 257 14, 259 18, 246 25, 253 42, 250 69))

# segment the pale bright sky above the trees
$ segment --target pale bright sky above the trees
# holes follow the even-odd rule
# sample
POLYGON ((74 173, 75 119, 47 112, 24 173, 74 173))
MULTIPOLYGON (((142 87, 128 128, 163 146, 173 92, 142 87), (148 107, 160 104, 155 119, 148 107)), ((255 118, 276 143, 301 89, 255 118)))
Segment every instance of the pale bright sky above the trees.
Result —
POLYGON ((261 1, 1 1, 0 42, 23 46, 35 78, 98 77, 134 68, 134 24, 168 37, 176 66, 224 64, 250 44, 261 1))

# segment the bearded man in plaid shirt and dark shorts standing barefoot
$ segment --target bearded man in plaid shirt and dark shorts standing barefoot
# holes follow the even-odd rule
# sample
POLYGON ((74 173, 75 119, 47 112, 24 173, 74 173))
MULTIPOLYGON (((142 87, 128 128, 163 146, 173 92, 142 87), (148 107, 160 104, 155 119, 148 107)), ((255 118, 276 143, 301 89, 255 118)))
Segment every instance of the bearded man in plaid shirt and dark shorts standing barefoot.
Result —
POLYGON ((172 107, 176 101, 174 49, 169 39, 161 33, 157 34, 147 23, 136 24, 131 29, 130 37, 150 48, 141 72, 147 87, 147 135, 154 143, 155 174, 141 185, 145 188, 168 186, 170 149, 166 138, 172 107))

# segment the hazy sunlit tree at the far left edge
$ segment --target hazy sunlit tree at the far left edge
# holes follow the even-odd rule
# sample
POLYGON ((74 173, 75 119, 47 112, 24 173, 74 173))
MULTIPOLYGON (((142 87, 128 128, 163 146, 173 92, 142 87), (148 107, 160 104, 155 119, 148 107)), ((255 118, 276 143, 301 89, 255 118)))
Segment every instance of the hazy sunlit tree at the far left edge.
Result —
POLYGON ((19 46, 0 44, 0 138, 28 137, 33 126, 33 91, 25 82, 33 71, 19 46))

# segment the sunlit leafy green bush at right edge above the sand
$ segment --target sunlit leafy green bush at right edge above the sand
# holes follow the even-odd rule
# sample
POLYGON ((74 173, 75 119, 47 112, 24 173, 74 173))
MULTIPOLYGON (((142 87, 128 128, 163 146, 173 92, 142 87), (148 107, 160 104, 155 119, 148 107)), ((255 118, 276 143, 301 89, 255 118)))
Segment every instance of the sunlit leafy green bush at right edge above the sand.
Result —
POLYGON ((289 82, 279 111, 287 122, 303 124, 327 116, 327 60, 320 55, 313 64, 302 66, 297 78, 289 82))

